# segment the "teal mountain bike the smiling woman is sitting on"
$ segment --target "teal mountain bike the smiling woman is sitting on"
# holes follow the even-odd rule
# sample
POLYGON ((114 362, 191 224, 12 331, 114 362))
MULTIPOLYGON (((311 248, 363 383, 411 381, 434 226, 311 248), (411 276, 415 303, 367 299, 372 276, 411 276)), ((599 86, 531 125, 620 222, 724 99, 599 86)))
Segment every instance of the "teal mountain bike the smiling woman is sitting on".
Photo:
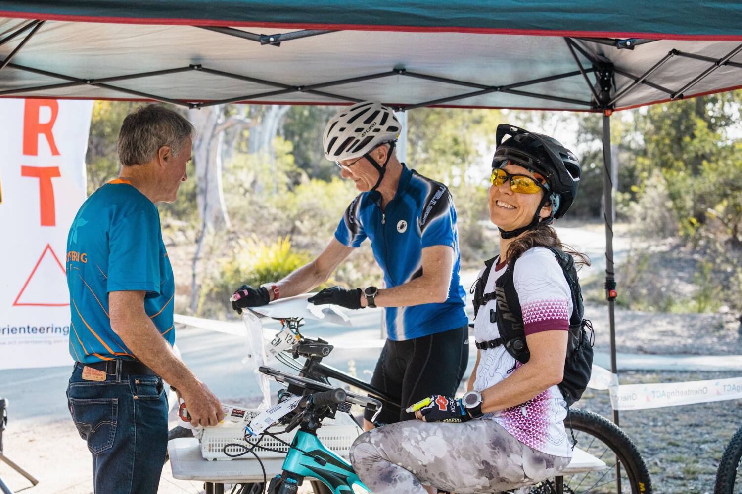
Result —
MULTIPOLYGON (((284 364, 298 372, 285 373, 271 367, 260 367, 260 372, 287 384, 279 392, 280 398, 301 395, 301 403, 292 413, 280 419, 286 430, 298 431, 289 444, 289 453, 283 462, 280 475, 266 483, 238 484, 232 490, 237 494, 293 494, 298 486, 309 478, 315 494, 361 494, 370 492, 362 484, 352 466, 335 453, 327 450, 317 438, 316 431, 324 418, 349 410, 350 404, 359 404, 378 410, 400 404, 390 396, 376 390, 370 384, 348 375, 341 370, 323 364, 333 346, 321 338, 307 338, 298 332, 301 318, 281 318, 283 327, 289 327, 298 335, 298 343, 286 353, 292 358, 279 358, 284 364), (298 358, 304 358, 300 365, 298 358), (338 381, 334 384, 333 381, 338 381), (343 386, 354 387, 368 396, 349 393, 343 386), (380 403, 381 402, 381 403, 380 403), (267 486, 266 486, 267 484, 267 486)), ((646 465, 637 448, 628 436, 605 418, 587 410, 571 409, 565 419, 565 427, 574 430, 577 440, 572 463, 561 475, 531 487, 532 494, 650 494, 651 480, 646 465)), ((275 433, 270 433, 275 438, 275 433)), ((253 440, 254 441, 254 440, 253 440)), ((260 442, 250 448, 259 455, 260 442)), ((247 449, 247 448, 246 448, 247 449)), ((244 460, 243 460, 244 461, 244 460)), ((528 490, 518 490, 518 493, 528 490)))

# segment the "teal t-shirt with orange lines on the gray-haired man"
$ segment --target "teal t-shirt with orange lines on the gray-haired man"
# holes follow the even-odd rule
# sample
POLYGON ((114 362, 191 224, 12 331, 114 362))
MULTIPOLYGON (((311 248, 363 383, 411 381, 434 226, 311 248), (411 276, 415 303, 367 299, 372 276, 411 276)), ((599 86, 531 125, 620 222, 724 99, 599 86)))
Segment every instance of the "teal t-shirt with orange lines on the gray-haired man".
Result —
POLYGON ((175 283, 160 214, 128 181, 108 182, 82 204, 67 238, 65 268, 76 361, 135 358, 111 329, 108 293, 116 291, 145 291, 145 312, 174 343, 175 283))

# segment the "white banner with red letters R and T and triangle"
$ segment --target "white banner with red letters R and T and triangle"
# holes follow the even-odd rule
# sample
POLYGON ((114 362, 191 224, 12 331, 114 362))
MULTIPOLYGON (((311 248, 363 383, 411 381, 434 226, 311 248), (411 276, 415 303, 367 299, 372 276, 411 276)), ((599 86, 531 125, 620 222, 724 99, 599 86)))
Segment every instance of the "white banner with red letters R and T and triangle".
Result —
POLYGON ((67 234, 92 101, 0 99, 0 369, 72 364, 67 234))

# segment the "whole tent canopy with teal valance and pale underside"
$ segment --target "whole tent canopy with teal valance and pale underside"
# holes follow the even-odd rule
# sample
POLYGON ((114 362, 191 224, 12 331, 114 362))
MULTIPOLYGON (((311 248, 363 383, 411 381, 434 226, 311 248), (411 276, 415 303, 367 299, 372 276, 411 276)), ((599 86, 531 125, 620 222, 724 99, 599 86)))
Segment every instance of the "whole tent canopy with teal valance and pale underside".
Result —
POLYGON ((602 111, 742 86, 738 1, 356 3, 4 1, 0 96, 602 111))

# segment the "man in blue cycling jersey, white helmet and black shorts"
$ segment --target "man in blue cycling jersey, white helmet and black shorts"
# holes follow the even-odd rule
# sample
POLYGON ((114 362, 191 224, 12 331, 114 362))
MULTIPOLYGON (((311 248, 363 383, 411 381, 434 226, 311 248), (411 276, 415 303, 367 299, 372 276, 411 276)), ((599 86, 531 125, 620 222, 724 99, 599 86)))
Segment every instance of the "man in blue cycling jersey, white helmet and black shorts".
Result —
POLYGON ((468 360, 464 288, 459 282, 456 209, 448 187, 410 170, 394 153, 401 125, 389 107, 364 101, 338 112, 324 131, 326 158, 361 193, 351 201, 335 238, 309 264, 282 280, 234 293, 232 306, 257 307, 324 283, 369 238, 384 288, 332 287, 313 304, 348 309, 384 307, 388 339, 371 384, 401 404, 384 404, 375 424, 411 420, 410 404, 433 394, 453 395, 468 360))

